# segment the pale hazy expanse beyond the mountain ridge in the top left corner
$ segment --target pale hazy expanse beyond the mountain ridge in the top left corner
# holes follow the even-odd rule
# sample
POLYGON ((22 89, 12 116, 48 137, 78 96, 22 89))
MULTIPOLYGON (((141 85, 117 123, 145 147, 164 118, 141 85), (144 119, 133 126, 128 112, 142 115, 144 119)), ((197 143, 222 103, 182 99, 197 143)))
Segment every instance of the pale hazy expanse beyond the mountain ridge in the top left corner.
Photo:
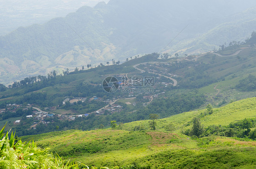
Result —
POLYGON ((83 5, 94 6, 109 0, 0 0, 0 35, 19 26, 41 24, 55 17, 64 17, 83 5))

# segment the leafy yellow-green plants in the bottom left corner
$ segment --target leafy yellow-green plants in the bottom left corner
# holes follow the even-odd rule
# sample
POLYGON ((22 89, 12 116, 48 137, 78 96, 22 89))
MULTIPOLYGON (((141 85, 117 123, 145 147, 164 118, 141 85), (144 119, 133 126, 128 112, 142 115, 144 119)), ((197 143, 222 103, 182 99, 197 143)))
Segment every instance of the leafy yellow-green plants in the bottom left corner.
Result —
MULTIPOLYGON (((4 127, 5 128, 5 127, 4 127)), ((78 165, 53 155, 48 148, 41 149, 34 141, 24 142, 11 133, 0 130, 0 168, 1 169, 78 169, 78 165)), ((86 165, 84 165, 86 166, 86 165)))

